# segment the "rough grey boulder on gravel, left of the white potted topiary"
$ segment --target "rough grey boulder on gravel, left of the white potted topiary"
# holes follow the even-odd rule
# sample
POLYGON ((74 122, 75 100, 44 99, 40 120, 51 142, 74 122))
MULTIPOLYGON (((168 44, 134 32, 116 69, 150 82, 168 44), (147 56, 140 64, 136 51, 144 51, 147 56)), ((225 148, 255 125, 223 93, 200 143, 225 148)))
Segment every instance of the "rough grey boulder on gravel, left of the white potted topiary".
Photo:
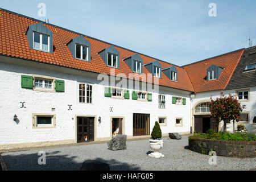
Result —
POLYGON ((109 150, 126 150, 127 135, 117 135, 108 142, 109 150))

